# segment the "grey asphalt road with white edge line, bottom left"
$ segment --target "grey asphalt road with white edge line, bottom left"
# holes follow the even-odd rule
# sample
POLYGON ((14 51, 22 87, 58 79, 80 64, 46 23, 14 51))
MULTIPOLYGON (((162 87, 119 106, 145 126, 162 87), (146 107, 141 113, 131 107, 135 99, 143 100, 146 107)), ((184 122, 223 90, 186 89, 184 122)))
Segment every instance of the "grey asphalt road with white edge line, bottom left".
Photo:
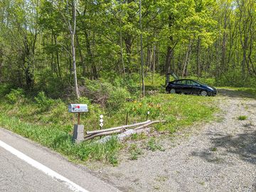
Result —
POLYGON ((49 149, 0 128, 0 191, 80 191, 72 183, 84 191, 119 191, 84 166, 72 164, 49 149), (13 147, 14 151, 18 150, 16 153, 28 156, 31 161, 4 149, 3 145, 13 147), (52 176, 52 172, 60 177, 52 176))

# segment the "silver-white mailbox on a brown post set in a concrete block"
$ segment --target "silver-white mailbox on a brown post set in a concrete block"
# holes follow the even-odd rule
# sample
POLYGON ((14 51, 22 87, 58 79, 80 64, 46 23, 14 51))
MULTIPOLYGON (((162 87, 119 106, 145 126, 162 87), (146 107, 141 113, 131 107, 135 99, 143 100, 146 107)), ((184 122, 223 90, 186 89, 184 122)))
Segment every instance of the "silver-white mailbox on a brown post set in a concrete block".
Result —
POLYGON ((78 124, 74 125, 73 129, 73 140, 76 143, 80 143, 84 139, 84 125, 80 124, 80 114, 81 112, 88 112, 88 106, 86 104, 70 104, 68 106, 68 112, 78 113, 78 124))

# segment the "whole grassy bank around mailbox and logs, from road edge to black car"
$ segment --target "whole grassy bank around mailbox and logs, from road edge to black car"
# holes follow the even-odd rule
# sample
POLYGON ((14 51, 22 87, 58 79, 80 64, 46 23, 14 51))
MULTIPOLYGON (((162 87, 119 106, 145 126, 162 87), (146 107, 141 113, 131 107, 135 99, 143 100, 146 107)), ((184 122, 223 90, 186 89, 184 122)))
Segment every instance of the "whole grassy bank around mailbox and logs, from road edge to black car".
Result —
MULTIPOLYGON (((53 100, 43 92, 31 97, 21 89, 1 90, 1 127, 54 149, 73 161, 118 163, 119 150, 124 146, 116 139, 106 144, 95 144, 95 140, 73 144, 71 134, 77 117, 68 113, 70 100, 53 100)), ((144 121, 149 111, 149 119, 166 120, 166 123, 154 126, 157 132, 172 133, 193 123, 212 119, 217 110, 213 106, 213 97, 156 93, 143 99, 130 97, 122 103, 112 97, 112 102, 109 99, 105 106, 87 97, 75 101, 88 104, 90 112, 81 117, 81 124, 86 130, 99 129, 100 114, 105 116, 104 128, 109 128, 125 124, 127 114, 129 124, 144 121)))

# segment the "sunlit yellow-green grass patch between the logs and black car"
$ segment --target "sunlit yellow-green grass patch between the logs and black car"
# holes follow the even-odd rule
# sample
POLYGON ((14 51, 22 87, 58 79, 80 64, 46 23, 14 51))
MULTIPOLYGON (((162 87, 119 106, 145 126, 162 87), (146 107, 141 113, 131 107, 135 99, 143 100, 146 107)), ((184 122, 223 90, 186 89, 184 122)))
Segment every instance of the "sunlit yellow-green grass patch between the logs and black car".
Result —
MULTIPOLYGON (((123 114, 128 112, 129 119, 137 119, 139 122, 146 120, 146 114, 149 111, 148 119, 166 120, 165 124, 155 125, 157 130, 175 132, 178 127, 212 118, 217 110, 211 105, 212 102, 212 97, 157 94, 127 102, 123 114)), ((114 118, 118 119, 117 115, 114 118)))

